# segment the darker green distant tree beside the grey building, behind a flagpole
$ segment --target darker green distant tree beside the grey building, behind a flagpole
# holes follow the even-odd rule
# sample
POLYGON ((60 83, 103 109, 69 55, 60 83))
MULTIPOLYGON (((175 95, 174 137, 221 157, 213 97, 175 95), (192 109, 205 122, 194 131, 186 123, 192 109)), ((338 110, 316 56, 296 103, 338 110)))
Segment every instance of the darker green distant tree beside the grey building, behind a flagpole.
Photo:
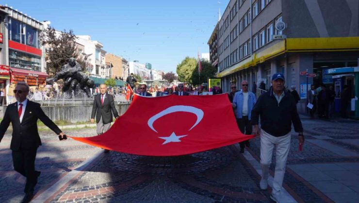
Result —
POLYGON ((206 60, 202 60, 202 71, 201 71, 201 81, 199 81, 199 73, 198 73, 198 63, 196 65, 196 69, 192 72, 192 82, 195 85, 200 85, 202 83, 207 83, 209 77, 214 77, 217 73, 217 69, 212 66, 212 64, 206 60))

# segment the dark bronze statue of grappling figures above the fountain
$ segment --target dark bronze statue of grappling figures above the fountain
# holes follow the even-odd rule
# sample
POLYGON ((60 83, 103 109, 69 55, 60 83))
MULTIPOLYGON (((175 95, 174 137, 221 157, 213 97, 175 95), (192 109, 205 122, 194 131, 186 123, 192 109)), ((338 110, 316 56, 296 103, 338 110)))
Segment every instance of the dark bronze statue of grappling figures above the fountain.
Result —
MULTIPOLYGON (((82 68, 75 58, 70 58, 68 63, 62 66, 62 69, 57 73, 53 78, 46 79, 46 82, 53 83, 59 79, 64 80, 64 86, 62 87, 62 92, 70 92, 76 89, 82 89, 87 97, 91 97, 90 88, 95 87, 95 83, 91 80, 85 73, 82 72, 82 68)), ((70 94, 72 96, 72 94, 70 94)), ((70 96, 70 97, 71 97, 70 96)))

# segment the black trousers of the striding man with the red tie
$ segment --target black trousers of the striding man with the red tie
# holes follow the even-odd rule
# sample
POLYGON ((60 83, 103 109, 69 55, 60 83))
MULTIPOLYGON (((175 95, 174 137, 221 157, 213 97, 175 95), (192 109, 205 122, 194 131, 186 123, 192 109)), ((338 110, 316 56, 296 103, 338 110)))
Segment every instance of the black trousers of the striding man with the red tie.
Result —
POLYGON ((36 152, 37 147, 20 148, 12 152, 14 170, 26 177, 25 193, 32 192, 37 182, 35 172, 36 152))

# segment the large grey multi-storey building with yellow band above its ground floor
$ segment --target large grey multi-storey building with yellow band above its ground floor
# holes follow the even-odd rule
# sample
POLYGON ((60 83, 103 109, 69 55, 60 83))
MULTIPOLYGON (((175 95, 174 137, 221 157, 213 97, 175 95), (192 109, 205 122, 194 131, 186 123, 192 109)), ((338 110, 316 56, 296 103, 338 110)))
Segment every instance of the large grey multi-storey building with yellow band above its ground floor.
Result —
MULTIPOLYGON (((284 73, 286 85, 300 93, 298 108, 304 112, 307 77, 300 73, 316 73, 309 84, 330 86, 326 69, 358 66, 358 8, 355 0, 230 0, 217 29, 224 91, 243 80, 264 81, 269 89, 271 75, 284 73)), ((358 89, 354 81, 345 78, 338 88, 358 89)))

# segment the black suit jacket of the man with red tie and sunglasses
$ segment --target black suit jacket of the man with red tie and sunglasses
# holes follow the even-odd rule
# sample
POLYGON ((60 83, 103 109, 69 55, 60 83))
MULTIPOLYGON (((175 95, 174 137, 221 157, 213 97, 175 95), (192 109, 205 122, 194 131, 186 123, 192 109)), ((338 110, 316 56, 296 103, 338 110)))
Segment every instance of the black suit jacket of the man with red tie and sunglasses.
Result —
POLYGON ((40 119, 56 134, 62 132, 56 124, 45 115, 39 103, 28 100, 21 123, 17 113, 17 102, 8 105, 0 124, 0 141, 11 122, 13 126, 13 137, 11 139, 10 149, 18 150, 19 147, 38 147, 41 145, 41 140, 37 131, 37 119, 40 119))

